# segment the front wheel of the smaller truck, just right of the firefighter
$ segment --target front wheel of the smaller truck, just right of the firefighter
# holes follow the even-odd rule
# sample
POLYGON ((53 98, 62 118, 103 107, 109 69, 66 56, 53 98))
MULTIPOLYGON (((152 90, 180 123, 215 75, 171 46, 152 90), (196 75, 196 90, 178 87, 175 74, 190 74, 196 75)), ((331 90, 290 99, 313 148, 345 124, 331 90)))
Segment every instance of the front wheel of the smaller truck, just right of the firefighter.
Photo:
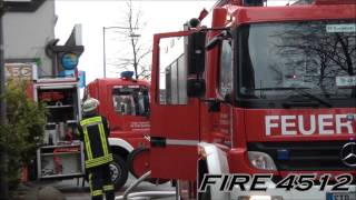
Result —
POLYGON ((126 183, 128 178, 128 169, 121 157, 112 154, 113 161, 109 164, 111 180, 115 186, 115 190, 119 190, 126 183))

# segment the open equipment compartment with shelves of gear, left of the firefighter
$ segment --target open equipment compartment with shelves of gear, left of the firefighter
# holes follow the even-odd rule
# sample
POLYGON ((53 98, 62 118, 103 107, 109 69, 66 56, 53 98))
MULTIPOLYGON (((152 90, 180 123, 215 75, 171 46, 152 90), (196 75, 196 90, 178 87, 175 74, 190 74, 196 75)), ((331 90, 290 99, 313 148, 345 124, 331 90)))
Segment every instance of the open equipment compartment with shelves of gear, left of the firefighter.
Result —
POLYGON ((82 177, 83 148, 75 132, 81 119, 78 81, 39 80, 33 92, 47 108, 43 142, 37 150, 38 179, 82 177))

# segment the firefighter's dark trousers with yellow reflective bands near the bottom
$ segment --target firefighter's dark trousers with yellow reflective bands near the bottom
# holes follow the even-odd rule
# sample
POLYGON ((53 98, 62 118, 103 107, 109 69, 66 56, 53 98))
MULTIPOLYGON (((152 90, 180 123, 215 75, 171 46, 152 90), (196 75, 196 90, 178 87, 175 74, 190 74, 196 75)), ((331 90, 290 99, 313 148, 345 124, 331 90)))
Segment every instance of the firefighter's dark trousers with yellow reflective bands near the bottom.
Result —
POLYGON ((115 200, 109 164, 90 168, 88 172, 91 199, 102 200, 105 194, 106 200, 115 200))

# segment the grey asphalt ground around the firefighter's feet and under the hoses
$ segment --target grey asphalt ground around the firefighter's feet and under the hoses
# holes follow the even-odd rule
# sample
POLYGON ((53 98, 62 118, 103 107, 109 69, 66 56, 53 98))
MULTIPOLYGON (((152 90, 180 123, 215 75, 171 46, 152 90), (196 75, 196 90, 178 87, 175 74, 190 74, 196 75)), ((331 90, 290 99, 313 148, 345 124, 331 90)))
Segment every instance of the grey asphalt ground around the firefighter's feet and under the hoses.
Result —
MULTIPOLYGON (((123 191, 135 181, 135 178, 130 177, 127 183, 116 192, 116 196, 122 196, 123 191)), ((79 179, 79 184, 77 184, 77 179, 63 180, 53 182, 53 187, 59 189, 67 198, 67 200, 90 200, 89 186, 88 182, 82 187, 82 179, 79 179)), ((149 182, 141 182, 134 192, 142 191, 175 191, 175 188, 171 187, 170 182, 165 184, 156 186, 149 182)), ((174 200, 175 198, 165 198, 165 200, 174 200)))

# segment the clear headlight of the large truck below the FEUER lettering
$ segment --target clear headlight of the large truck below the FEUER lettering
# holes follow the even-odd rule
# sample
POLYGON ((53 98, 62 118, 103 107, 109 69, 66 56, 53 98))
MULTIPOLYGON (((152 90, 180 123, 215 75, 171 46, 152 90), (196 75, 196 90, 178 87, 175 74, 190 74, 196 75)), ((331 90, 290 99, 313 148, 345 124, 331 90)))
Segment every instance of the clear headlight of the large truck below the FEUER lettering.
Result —
POLYGON ((264 152, 248 151, 249 162, 257 169, 261 170, 277 170, 274 160, 264 152))

